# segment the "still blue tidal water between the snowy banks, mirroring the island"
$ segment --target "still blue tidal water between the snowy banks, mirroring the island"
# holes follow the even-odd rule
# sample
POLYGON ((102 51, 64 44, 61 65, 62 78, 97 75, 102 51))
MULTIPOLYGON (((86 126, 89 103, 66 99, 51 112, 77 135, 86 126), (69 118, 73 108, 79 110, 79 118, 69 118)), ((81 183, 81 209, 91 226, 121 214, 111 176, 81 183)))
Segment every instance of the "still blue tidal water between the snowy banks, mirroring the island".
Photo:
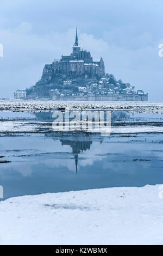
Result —
MULTIPOLYGON (((0 120, 52 122, 52 113, 0 112, 0 120)), ((112 126, 162 126, 163 114, 112 112, 112 126)), ((27 194, 163 183, 163 134, 0 133, 4 199, 27 194)))

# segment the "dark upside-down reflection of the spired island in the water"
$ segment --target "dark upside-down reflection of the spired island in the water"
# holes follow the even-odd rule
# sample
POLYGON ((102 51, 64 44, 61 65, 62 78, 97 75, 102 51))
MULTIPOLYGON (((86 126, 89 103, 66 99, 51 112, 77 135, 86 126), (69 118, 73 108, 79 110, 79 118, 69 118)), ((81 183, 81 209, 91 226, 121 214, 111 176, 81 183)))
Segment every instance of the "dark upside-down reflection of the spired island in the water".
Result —
MULTIPOLYGON (((52 118, 52 113, 35 113, 37 118, 52 118)), ((114 111, 111 113, 111 121, 114 123, 117 119, 130 119, 130 112, 114 111)), ((97 141, 102 144, 104 137, 95 133, 67 133, 67 132, 51 132, 45 135, 52 137, 54 141, 59 140, 62 146, 69 145, 72 148, 72 154, 76 165, 76 173, 79 161, 79 155, 84 151, 90 150, 93 142, 97 141)))

